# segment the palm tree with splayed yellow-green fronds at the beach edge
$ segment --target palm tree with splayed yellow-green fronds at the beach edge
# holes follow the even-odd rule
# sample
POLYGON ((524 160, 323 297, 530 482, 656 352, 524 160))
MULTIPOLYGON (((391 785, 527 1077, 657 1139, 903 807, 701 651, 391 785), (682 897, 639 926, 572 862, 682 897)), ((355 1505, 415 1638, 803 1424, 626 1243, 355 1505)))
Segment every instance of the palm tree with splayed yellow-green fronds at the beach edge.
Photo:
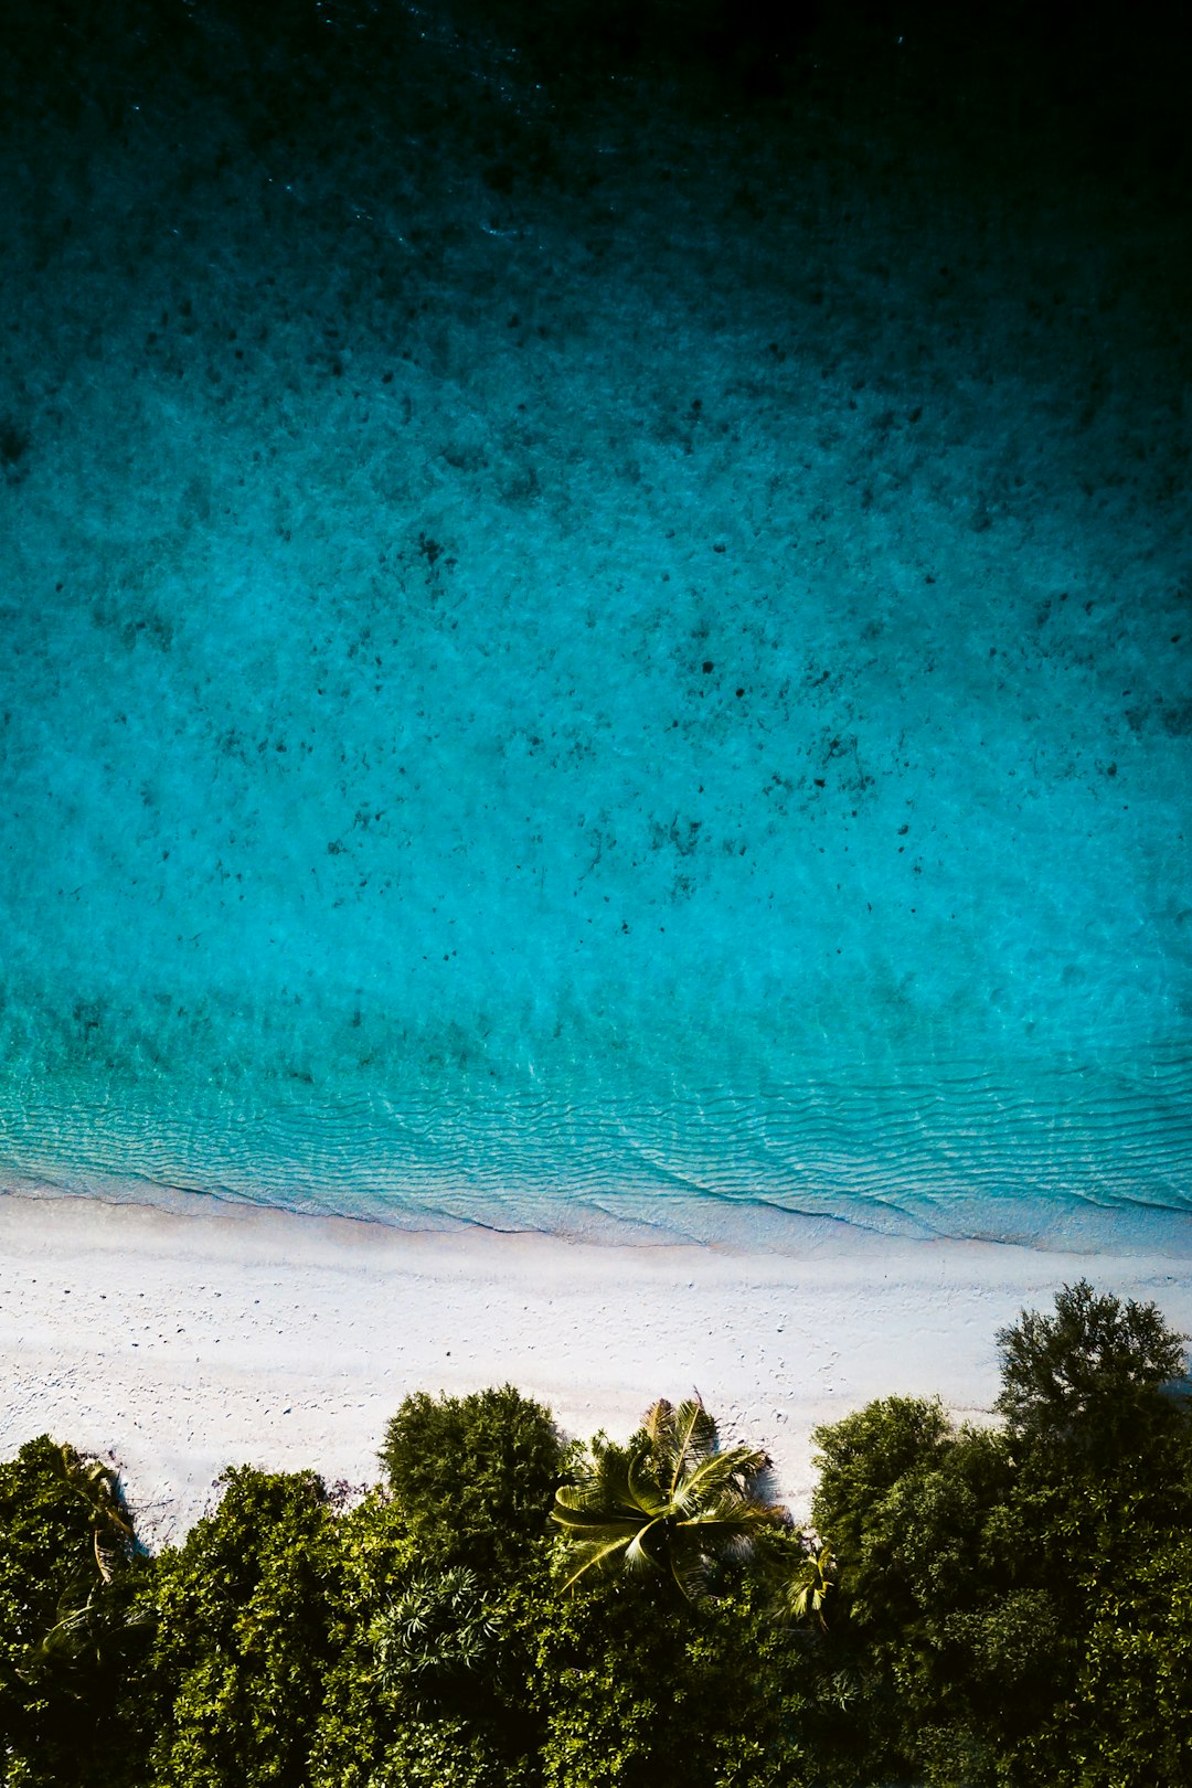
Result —
POLYGON ((550 1520, 579 1557, 565 1588, 620 1561, 670 1573, 690 1602, 701 1600, 718 1563, 747 1557, 761 1532, 790 1525, 761 1491, 768 1464, 752 1446, 720 1452, 699 1398, 677 1409, 661 1398, 636 1446, 600 1448, 577 1484, 556 1491, 550 1520))

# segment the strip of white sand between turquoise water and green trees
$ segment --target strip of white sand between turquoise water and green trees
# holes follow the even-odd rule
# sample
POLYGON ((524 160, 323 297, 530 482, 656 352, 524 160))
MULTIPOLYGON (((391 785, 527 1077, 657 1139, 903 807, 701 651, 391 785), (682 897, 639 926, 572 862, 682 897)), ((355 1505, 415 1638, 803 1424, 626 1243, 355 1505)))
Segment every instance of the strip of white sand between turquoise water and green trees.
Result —
POLYGON ((1192 1328, 1192 1264, 808 1225, 806 1253, 409 1234, 204 1205, 0 1196, 0 1457, 52 1432, 113 1455, 150 1541, 232 1463, 377 1477, 411 1389, 511 1380, 572 1434, 697 1386, 799 1511, 810 1430, 872 1396, 997 1393, 995 1330, 1087 1275, 1192 1328))

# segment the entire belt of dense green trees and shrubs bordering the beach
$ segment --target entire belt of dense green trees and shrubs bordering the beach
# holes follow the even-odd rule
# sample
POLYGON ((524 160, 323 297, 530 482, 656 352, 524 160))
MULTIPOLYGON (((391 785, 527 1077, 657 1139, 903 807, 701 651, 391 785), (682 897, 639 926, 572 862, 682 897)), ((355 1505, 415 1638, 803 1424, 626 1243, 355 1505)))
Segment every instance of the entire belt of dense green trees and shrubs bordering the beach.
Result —
POLYGON ((1181 1337, 1079 1284, 997 1341, 997 1429, 892 1396, 817 1430, 815 1534, 699 1402, 567 1448, 509 1386, 411 1396, 384 1486, 232 1470, 155 1559, 111 1470, 32 1441, 0 1784, 1192 1781, 1181 1337))

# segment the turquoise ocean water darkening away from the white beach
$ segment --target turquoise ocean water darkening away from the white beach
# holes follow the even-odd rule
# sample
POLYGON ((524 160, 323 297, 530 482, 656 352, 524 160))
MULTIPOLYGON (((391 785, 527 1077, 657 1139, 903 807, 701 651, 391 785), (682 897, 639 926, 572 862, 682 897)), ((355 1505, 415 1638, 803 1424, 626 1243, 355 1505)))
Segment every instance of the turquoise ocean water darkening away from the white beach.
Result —
POLYGON ((493 66, 5 157, 0 1178, 1185 1248, 1162 231, 493 66))

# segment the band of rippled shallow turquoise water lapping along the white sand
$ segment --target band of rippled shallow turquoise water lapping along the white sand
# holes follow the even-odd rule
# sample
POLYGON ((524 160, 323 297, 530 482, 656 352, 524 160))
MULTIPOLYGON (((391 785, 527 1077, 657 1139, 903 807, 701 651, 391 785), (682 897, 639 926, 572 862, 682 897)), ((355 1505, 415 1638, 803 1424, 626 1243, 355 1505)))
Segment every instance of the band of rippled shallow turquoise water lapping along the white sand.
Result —
POLYGON ((1017 1064, 765 1091, 290 1094, 241 1109, 50 1098, 0 1109, 9 1184, 170 1189, 407 1228, 483 1223, 776 1243, 776 1214, 1040 1241, 1192 1212, 1192 1058, 1017 1064), (726 1214, 727 1212, 727 1214, 726 1214), (751 1218, 752 1212, 752 1218, 751 1218), (765 1221, 761 1221, 765 1212, 765 1221))

